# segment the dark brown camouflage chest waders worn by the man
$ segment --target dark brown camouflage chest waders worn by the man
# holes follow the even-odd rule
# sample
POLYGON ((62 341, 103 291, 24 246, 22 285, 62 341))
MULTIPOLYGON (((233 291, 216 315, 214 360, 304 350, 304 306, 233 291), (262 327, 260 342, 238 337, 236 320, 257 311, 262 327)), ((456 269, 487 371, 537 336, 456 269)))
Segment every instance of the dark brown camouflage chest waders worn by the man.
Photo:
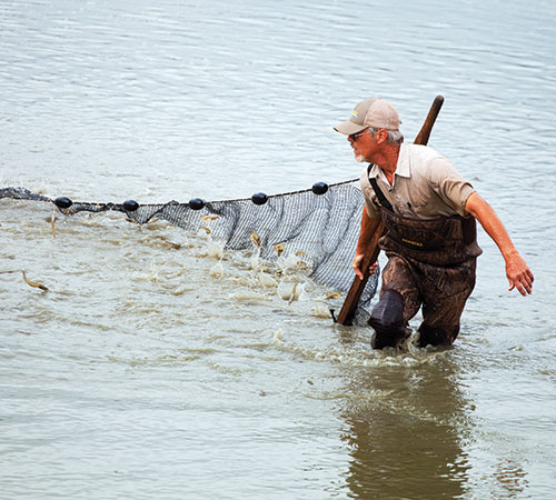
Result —
POLYGON ((401 217, 376 184, 386 232, 379 247, 388 257, 380 299, 371 311, 374 349, 398 347, 409 337, 408 321, 423 306, 419 346, 449 346, 459 332, 459 318, 475 286, 477 246, 473 217, 417 219, 401 217))

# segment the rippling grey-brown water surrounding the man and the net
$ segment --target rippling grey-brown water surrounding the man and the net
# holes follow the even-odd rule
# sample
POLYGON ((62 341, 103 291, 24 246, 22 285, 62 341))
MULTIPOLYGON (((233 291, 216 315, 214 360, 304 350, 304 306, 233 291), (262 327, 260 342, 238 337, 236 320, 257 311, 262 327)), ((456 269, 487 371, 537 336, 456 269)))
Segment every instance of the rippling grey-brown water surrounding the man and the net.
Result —
POLYGON ((3 200, 0 498, 554 497, 555 14, 3 0, 1 186, 143 202, 304 189, 358 177, 331 130, 357 101, 389 99, 411 140, 441 93, 430 144, 536 281, 507 292, 481 232, 455 347, 373 352, 302 274, 290 303, 202 236, 105 214, 53 238, 50 208, 3 200))

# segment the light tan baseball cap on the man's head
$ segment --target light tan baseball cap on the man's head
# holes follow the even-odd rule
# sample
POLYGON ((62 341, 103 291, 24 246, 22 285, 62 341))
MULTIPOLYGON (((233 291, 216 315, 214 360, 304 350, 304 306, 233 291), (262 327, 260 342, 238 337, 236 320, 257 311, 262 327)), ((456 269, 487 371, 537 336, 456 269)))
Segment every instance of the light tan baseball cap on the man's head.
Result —
POLYGON ((351 136, 351 133, 360 132, 367 127, 399 130, 400 123, 401 121, 394 106, 384 99, 374 98, 359 102, 354 111, 351 111, 349 120, 336 126, 334 130, 346 136, 351 136))

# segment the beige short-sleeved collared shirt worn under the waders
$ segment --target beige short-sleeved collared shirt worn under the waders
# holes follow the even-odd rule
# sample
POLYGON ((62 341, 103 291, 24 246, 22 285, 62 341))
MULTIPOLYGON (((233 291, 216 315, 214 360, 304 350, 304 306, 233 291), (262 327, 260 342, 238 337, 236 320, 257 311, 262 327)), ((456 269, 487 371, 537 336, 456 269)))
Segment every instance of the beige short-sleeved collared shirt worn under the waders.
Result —
MULTIPOLYGON (((399 216, 434 219, 457 213, 468 217, 465 203, 475 189, 448 159, 433 148, 401 144, 391 186, 383 169, 376 164, 370 170, 370 177, 377 179, 378 187, 399 216)), ((378 199, 370 186, 367 168, 361 174, 360 186, 368 216, 380 218, 378 199)))

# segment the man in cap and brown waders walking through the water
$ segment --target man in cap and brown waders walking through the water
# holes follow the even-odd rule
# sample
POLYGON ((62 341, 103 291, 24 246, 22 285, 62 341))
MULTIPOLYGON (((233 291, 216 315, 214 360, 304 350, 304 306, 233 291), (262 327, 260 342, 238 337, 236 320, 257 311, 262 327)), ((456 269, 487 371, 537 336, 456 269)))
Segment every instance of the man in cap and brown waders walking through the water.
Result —
MULTIPOLYGON (((493 208, 453 164, 426 146, 404 144, 399 116, 383 99, 359 102, 335 130, 348 137, 355 158, 370 162, 361 174, 365 197, 354 270, 379 227, 388 263, 369 324, 375 349, 398 347, 410 334, 408 321, 423 307, 419 346, 450 346, 459 332, 465 302, 475 286, 477 219, 506 261, 509 290, 532 292, 533 273, 493 208)), ((371 272, 376 270, 376 263, 371 272)))

